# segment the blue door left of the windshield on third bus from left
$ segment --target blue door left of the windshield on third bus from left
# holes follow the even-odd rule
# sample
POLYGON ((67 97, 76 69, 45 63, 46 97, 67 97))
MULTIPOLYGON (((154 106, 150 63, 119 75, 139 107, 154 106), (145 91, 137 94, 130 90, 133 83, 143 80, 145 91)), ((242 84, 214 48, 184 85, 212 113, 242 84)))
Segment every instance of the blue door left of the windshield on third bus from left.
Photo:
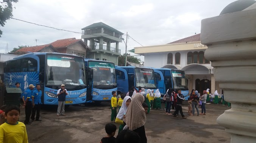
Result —
POLYGON ((116 80, 117 80, 117 90, 126 94, 129 91, 128 89, 129 84, 128 84, 128 75, 125 69, 116 68, 116 80))

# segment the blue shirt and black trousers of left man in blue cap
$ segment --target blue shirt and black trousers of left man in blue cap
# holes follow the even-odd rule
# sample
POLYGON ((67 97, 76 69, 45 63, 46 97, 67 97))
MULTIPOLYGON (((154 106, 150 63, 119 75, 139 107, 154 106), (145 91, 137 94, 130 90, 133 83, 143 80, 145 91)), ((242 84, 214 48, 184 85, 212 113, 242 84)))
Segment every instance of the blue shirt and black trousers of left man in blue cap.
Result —
POLYGON ((25 121, 24 121, 25 124, 27 124, 29 122, 31 112, 32 112, 32 99, 31 99, 32 92, 33 92, 33 90, 27 89, 24 91, 24 94, 23 94, 24 99, 25 100, 28 99, 26 106, 25 106, 25 115, 26 115, 25 121))

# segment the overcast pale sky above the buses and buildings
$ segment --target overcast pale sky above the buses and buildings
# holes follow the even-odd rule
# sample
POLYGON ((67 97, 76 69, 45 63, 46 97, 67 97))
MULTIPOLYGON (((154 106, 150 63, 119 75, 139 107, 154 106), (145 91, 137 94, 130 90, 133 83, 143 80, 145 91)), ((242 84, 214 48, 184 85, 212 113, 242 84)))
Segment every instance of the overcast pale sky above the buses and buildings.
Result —
MULTIPOLYGON (((220 14, 236 0, 19 0, 13 18, 59 29, 81 32, 83 27, 103 22, 130 35, 143 46, 169 42, 200 33, 201 20, 220 14)), ((0 53, 21 45, 36 46, 81 34, 8 20, 0 38, 0 53)), ((123 37, 126 38, 126 37, 123 37)), ((125 44, 119 44, 125 53, 125 44)), ((131 38, 127 50, 140 46, 131 38)))

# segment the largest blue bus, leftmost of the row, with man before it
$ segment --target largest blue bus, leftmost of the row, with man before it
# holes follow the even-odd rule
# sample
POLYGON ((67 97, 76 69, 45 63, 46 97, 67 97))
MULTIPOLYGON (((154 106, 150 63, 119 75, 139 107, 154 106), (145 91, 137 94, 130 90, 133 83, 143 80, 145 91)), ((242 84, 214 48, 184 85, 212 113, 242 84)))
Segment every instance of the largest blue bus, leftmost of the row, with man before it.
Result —
POLYGON ((28 85, 39 84, 42 103, 58 105, 57 91, 65 84, 68 91, 66 104, 85 103, 91 94, 86 94, 87 77, 84 58, 63 53, 28 53, 6 61, 4 65, 6 87, 20 83, 24 92, 28 85))

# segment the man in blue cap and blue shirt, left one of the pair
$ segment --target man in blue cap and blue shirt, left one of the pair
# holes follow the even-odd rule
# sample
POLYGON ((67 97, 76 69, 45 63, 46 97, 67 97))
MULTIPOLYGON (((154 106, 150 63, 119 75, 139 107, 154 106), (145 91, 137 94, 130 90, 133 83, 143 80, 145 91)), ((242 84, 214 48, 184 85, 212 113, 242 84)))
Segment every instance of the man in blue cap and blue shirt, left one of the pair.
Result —
POLYGON ((31 116, 31 111, 32 111, 31 96, 32 96, 34 87, 35 86, 33 84, 28 85, 29 89, 25 90, 23 94, 23 98, 25 99, 23 107, 25 106, 25 114, 26 114, 24 124, 31 124, 31 122, 29 122, 29 118, 31 116))

